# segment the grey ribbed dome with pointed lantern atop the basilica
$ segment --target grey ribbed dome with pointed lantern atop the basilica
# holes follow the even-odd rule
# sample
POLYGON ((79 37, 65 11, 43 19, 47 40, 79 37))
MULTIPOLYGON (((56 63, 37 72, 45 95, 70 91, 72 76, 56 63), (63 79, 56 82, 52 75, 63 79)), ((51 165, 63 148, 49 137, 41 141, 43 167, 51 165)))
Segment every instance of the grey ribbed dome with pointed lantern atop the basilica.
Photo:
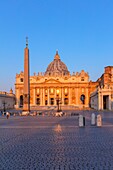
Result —
POLYGON ((48 65, 45 75, 69 75, 67 66, 61 61, 58 51, 54 57, 54 60, 48 65))

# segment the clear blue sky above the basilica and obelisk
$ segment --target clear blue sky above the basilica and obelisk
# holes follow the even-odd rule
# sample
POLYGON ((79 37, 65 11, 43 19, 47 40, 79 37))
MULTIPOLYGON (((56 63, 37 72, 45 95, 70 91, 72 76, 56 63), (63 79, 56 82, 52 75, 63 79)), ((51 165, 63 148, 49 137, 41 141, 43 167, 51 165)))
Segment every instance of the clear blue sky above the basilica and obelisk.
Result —
POLYGON ((113 66, 113 1, 1 0, 0 91, 15 91, 26 36, 31 76, 45 72, 58 50, 71 74, 84 70, 96 81, 113 66))

